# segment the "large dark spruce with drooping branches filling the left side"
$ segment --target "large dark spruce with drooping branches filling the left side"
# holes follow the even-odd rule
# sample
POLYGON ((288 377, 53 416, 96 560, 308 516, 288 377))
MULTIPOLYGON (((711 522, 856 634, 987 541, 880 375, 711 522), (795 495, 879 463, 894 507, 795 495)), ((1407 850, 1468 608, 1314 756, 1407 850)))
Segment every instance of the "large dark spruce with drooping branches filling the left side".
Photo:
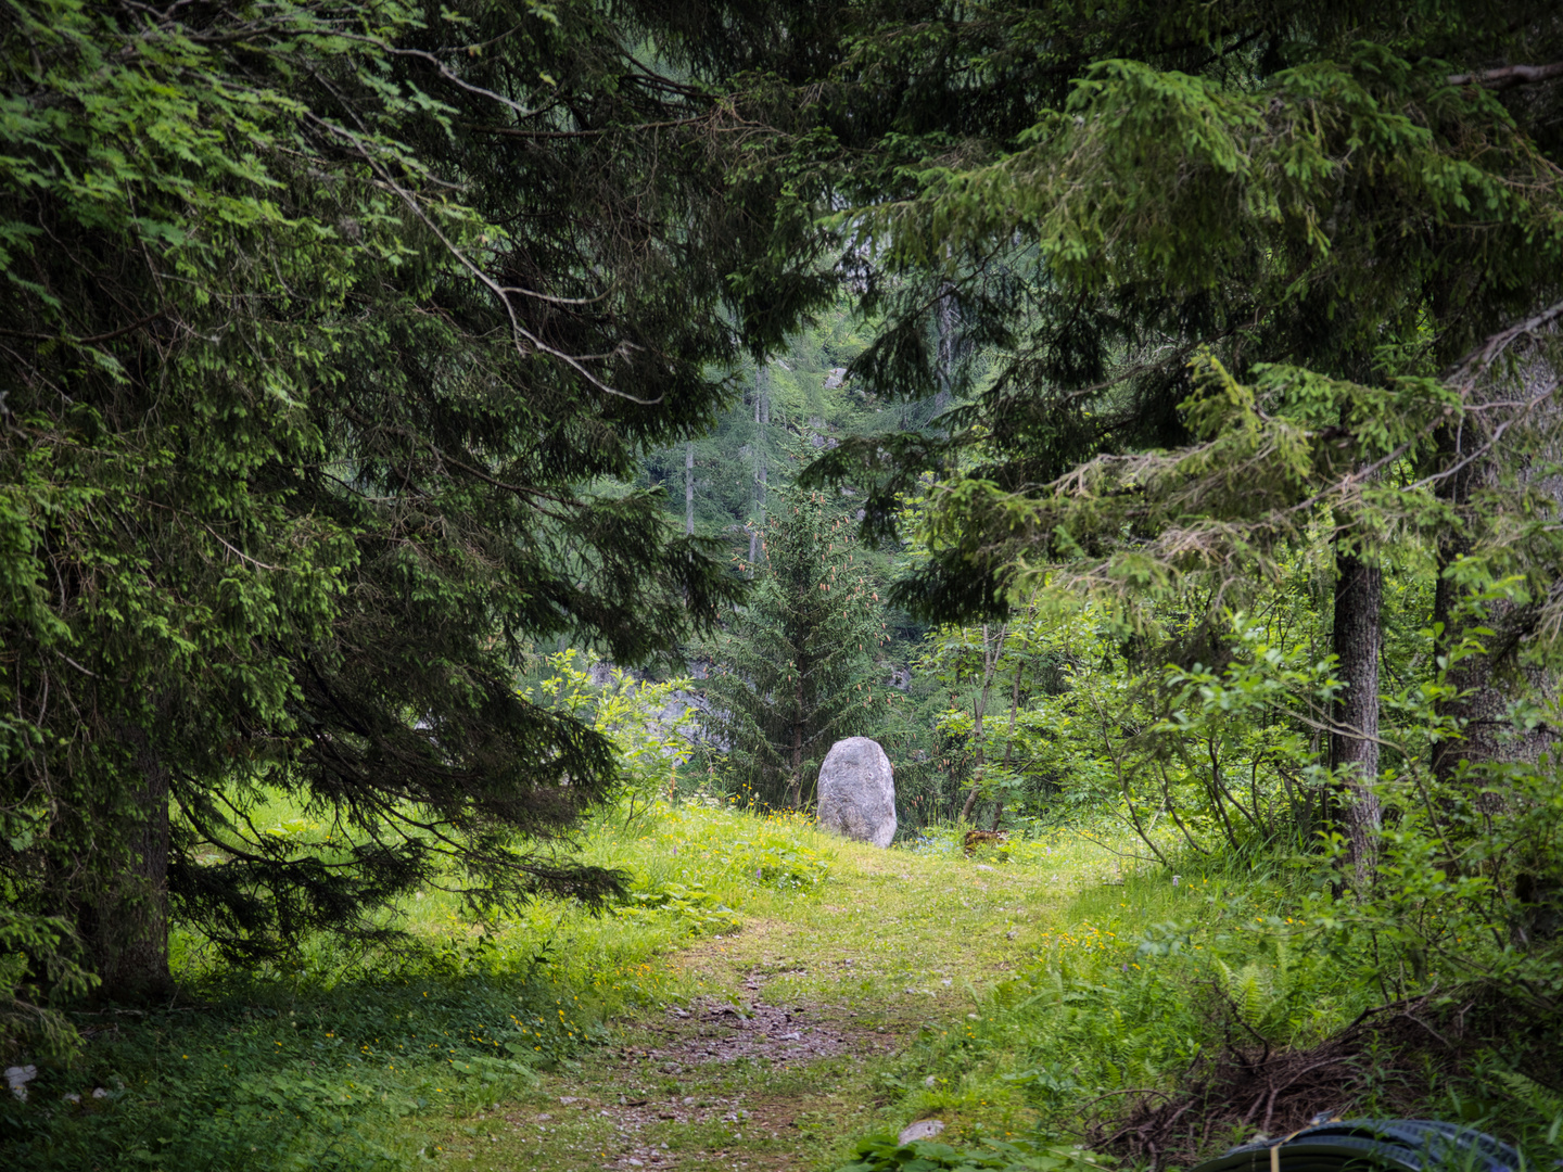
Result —
POLYGON ((624 481, 830 289, 742 102, 616 13, 6 8, 0 928, 36 970, 73 939, 159 992, 170 916, 253 961, 425 883, 619 884, 560 838, 610 744, 514 664, 730 609, 624 481), (317 828, 269 833, 278 794, 317 828))

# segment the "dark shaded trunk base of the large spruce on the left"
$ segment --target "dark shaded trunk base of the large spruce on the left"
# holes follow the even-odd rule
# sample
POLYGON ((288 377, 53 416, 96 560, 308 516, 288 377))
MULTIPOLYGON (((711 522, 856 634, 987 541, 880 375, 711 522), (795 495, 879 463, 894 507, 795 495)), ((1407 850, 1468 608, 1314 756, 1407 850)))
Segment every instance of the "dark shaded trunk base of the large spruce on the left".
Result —
POLYGON ((123 822, 123 867, 77 916, 83 944, 114 1002, 166 997, 169 972, 169 770, 148 736, 127 730, 131 809, 123 822))

